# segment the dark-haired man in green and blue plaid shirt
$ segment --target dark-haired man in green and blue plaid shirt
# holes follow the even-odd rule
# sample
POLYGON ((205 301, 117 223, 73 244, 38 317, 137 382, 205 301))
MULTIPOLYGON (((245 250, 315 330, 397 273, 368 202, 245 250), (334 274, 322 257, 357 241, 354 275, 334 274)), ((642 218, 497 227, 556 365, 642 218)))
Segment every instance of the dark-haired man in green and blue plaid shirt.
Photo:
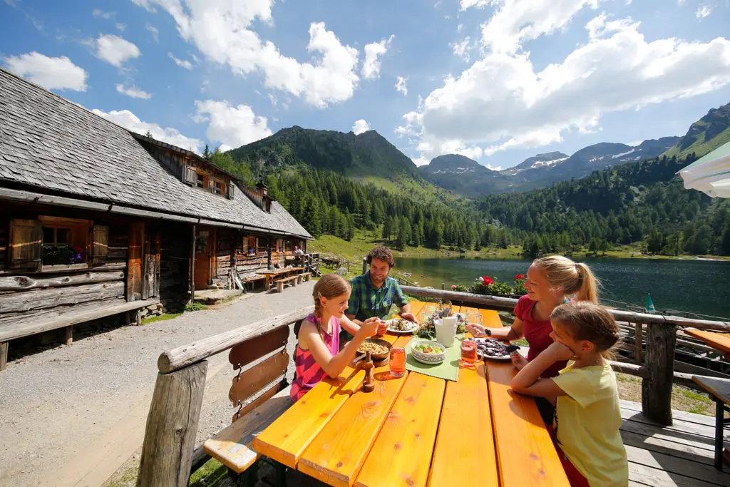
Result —
MULTIPOLYGON (((347 318, 358 325, 373 316, 383 319, 390 312, 391 304, 395 303, 401 307, 401 318, 418 323, 398 281, 388 277, 395 265, 391 249, 378 245, 368 254, 367 263, 370 264, 370 270, 350 280, 353 291, 347 304, 347 318)), ((385 332, 384 329, 378 331, 385 332)), ((352 338, 347 331, 343 330, 343 334, 346 340, 352 338)))

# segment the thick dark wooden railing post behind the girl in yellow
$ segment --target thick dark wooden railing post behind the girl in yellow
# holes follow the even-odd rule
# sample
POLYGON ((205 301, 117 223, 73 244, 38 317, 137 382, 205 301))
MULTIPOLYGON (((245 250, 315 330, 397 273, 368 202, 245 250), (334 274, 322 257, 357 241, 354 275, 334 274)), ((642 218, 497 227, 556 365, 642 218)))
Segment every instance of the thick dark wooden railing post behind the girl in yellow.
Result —
POLYGON ((647 376, 642 380, 642 412, 650 420, 670 426, 677 328, 670 324, 650 324, 647 328, 647 376))

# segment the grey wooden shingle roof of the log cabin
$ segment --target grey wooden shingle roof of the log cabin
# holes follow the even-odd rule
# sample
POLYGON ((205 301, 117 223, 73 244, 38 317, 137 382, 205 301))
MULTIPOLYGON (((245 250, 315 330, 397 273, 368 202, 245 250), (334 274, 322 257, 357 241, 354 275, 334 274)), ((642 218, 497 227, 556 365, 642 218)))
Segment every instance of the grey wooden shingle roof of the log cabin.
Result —
POLYGON ((0 180, 311 238, 277 202, 268 213, 240 189, 185 185, 126 129, 1 68, 0 180))

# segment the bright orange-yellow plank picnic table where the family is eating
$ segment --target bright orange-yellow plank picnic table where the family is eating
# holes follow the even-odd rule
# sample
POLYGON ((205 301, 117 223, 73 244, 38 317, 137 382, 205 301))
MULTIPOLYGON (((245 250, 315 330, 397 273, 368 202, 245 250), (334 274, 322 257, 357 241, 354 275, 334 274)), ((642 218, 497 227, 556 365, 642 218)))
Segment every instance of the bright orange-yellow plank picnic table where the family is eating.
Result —
MULTIPOLYGON (((411 302, 419 315, 426 303, 411 302)), ((484 326, 502 326, 495 311, 484 326)), ((412 337, 385 335, 404 347, 412 337)), ((331 486, 568 486, 534 399, 513 393, 510 361, 460 366, 456 382, 388 365, 327 377, 253 440, 253 448, 331 486)))

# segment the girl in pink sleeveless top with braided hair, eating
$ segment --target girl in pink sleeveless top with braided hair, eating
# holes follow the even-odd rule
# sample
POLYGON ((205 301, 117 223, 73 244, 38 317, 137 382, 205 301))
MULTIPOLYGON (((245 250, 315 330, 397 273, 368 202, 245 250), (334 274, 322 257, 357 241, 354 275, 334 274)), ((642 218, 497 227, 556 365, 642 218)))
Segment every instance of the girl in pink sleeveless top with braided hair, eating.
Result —
POLYGON ((291 400, 296 402, 322 380, 325 375, 335 378, 353 361, 366 338, 372 337, 385 322, 377 318, 365 320, 358 326, 345 316, 350 299, 350 283, 336 274, 324 275, 316 284, 312 296, 315 312, 304 318, 296 329, 299 343, 294 353, 296 378, 291 385, 291 400), (353 334, 339 350, 339 331, 353 334))

